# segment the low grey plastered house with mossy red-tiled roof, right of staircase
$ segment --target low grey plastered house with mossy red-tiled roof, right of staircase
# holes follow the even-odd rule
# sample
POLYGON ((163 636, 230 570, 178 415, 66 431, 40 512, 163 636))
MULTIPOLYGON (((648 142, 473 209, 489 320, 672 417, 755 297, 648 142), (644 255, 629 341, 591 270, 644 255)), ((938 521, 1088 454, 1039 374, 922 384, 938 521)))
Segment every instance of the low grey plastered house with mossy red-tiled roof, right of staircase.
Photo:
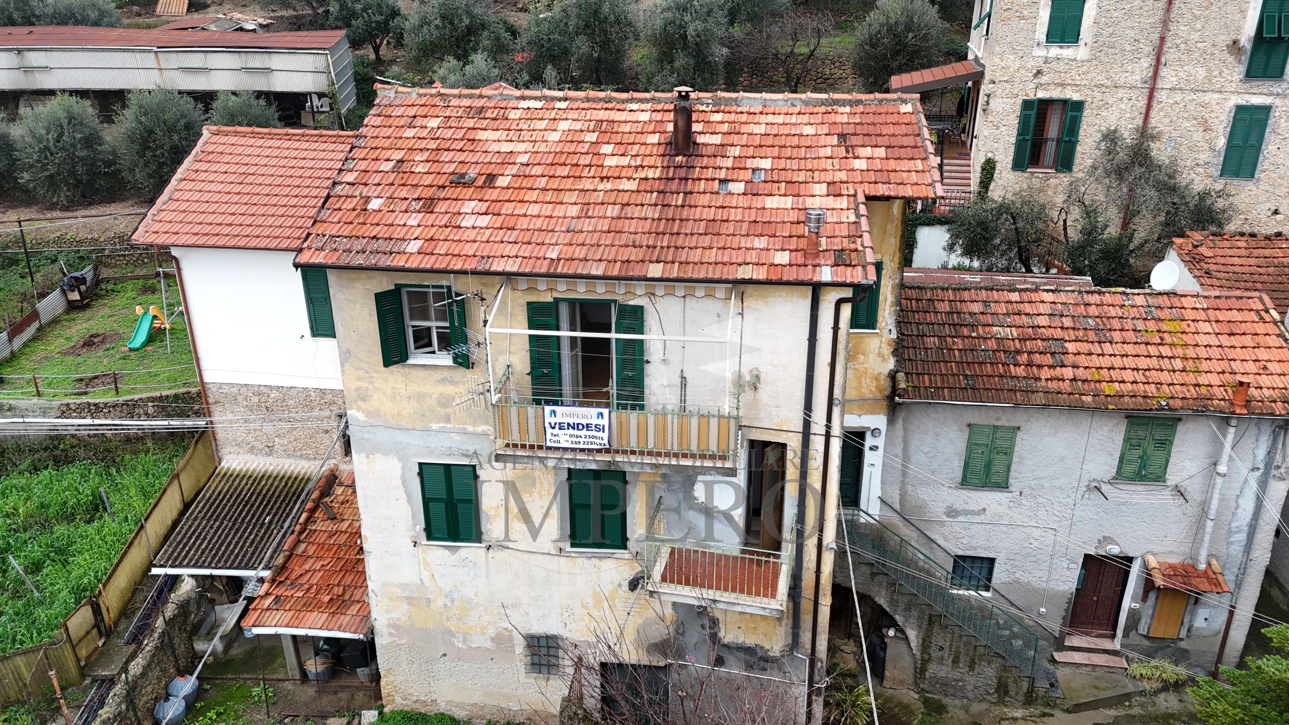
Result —
POLYGON ((1020 619, 1058 672, 1124 650, 1235 666, 1286 490, 1267 298, 906 283, 900 307, 880 506, 856 520, 1020 619))

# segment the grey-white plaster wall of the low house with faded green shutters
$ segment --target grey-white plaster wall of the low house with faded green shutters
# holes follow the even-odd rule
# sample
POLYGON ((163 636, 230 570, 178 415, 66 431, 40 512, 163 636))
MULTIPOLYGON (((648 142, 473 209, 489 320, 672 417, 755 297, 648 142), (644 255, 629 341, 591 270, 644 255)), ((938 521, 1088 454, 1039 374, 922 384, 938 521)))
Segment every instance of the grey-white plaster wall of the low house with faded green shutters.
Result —
MULTIPOLYGON (((953 555, 995 557, 996 596, 1036 619, 1065 626, 1084 553, 1105 553, 1107 546, 1118 546, 1123 556, 1130 557, 1152 553, 1161 560, 1194 561, 1197 556, 1213 466, 1222 449, 1222 439, 1210 423, 1219 431, 1225 426, 1218 415, 1172 417, 1181 423, 1167 482, 1150 485, 1111 481, 1127 426, 1124 412, 900 404, 891 418, 886 445, 886 457, 895 464, 886 467, 883 522, 907 534, 946 566, 951 565, 953 555), (971 423, 1020 427, 1009 488, 958 485, 971 423), (916 471, 905 470, 901 463, 916 471), (1047 614, 1039 615, 1044 604, 1047 614)), ((1249 418, 1239 423, 1210 551, 1232 587, 1275 424, 1249 418)), ((1285 501, 1285 481, 1272 476, 1266 499, 1253 555, 1237 591, 1236 608, 1241 611, 1250 611, 1257 601, 1271 553, 1275 516, 1285 501)), ((1142 601, 1139 559, 1136 568, 1125 592, 1129 604, 1142 601)), ((1174 657, 1210 668, 1228 599, 1192 600, 1183 630, 1188 631, 1181 640, 1137 635, 1148 608, 1129 606, 1120 622, 1123 645, 1150 657, 1174 657), (1209 610, 1207 627, 1190 626, 1197 609, 1209 610)), ((1248 626, 1248 615, 1236 614, 1226 663, 1239 659, 1248 626)))

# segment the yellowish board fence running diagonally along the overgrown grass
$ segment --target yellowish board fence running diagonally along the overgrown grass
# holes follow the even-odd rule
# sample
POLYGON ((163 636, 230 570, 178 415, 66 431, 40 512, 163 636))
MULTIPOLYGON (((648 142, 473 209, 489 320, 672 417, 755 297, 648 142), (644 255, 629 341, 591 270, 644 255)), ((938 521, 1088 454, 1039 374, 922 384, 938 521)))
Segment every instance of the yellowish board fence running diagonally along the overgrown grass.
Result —
POLYGON ((111 636, 134 596, 134 588, 152 569, 153 555, 165 544, 170 529, 206 486, 218 466, 210 433, 202 432, 175 464, 98 590, 63 621, 62 635, 0 654, 0 706, 39 697, 49 684, 50 670, 58 673, 58 681, 64 688, 85 681, 81 666, 111 636))

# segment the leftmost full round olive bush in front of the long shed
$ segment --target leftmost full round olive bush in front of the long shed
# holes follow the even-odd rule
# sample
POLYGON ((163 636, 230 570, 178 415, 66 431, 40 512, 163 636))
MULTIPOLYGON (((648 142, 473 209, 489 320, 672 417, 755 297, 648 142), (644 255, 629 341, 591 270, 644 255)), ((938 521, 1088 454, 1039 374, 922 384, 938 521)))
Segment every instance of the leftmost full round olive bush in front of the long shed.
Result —
POLYGON ((89 101, 59 93, 12 129, 18 183, 63 206, 98 195, 111 150, 89 101))

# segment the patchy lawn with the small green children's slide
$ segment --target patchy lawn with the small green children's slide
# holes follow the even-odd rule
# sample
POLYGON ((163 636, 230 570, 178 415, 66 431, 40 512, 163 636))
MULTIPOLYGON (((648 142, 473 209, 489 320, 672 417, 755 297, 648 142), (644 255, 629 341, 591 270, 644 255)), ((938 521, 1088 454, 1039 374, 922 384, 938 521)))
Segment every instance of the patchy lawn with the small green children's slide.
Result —
MULTIPOLYGON (((177 302, 173 277, 166 280, 166 299, 173 313, 177 302)), ((156 304, 161 310, 161 288, 156 280, 99 285, 89 306, 70 307, 0 362, 4 378, 0 399, 34 397, 32 374, 40 381, 41 397, 113 397, 112 370, 119 372, 116 382, 121 395, 195 387, 197 373, 182 316, 170 328, 170 352, 166 352, 164 329, 152 333, 148 347, 122 350, 138 321, 134 313, 138 304, 144 310, 156 304)))

